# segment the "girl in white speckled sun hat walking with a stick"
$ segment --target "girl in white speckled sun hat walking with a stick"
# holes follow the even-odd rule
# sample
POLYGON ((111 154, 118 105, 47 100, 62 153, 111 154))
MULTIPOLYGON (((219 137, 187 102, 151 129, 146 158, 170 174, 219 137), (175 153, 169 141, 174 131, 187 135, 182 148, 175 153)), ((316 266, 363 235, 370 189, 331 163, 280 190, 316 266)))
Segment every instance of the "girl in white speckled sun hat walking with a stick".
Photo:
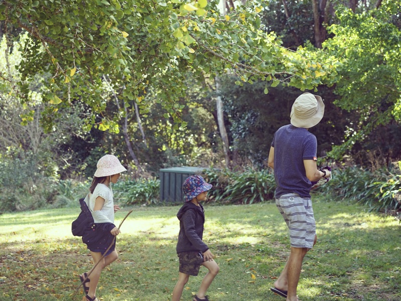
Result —
POLYGON ((80 275, 81 282, 84 281, 83 287, 86 293, 87 301, 99 301, 96 298, 96 287, 99 282, 100 273, 103 268, 118 258, 115 250, 115 240, 113 246, 103 254, 112 243, 116 235, 120 233, 118 227, 114 225, 114 213, 120 208, 114 205, 113 191, 109 187, 110 183, 117 183, 120 173, 126 169, 121 165, 117 157, 106 155, 99 159, 97 170, 93 178, 92 185, 89 188, 90 193, 85 198, 94 224, 85 231, 82 241, 88 246, 93 261, 96 265, 95 269, 88 276, 88 272, 80 275))

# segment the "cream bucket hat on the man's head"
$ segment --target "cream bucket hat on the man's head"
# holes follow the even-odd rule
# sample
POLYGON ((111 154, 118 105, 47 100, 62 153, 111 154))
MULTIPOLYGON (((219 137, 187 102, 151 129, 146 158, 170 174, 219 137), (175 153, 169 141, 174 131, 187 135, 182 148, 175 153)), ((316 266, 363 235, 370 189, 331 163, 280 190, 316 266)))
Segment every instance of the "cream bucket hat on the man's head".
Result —
POLYGON ((291 124, 296 127, 310 128, 322 120, 324 103, 320 96, 309 92, 295 99, 291 108, 291 124))

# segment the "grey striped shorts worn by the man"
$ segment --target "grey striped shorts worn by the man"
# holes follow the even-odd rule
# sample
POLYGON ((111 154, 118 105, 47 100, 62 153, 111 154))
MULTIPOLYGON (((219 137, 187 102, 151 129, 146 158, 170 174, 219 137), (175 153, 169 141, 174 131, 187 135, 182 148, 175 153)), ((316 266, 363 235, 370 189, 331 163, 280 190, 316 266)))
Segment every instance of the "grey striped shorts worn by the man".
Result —
POLYGON ((311 199, 290 193, 276 199, 276 206, 290 231, 291 246, 311 249, 316 235, 311 199))

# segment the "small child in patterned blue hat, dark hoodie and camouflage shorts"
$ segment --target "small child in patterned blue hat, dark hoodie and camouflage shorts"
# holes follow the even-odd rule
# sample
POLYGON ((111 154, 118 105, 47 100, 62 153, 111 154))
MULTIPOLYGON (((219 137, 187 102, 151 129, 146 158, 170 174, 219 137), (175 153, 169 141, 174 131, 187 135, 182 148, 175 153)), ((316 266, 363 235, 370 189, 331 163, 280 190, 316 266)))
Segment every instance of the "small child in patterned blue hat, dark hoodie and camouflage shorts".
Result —
POLYGON ((179 301, 189 275, 197 276, 200 265, 206 266, 209 271, 192 300, 209 301, 206 291, 220 268, 213 259, 215 256, 209 247, 202 241, 205 210, 199 202, 206 200, 207 191, 211 188, 212 185, 206 183, 200 176, 190 176, 182 184, 185 204, 177 213, 179 234, 176 251, 179 258, 179 274, 177 284, 172 291, 171 301, 179 301))

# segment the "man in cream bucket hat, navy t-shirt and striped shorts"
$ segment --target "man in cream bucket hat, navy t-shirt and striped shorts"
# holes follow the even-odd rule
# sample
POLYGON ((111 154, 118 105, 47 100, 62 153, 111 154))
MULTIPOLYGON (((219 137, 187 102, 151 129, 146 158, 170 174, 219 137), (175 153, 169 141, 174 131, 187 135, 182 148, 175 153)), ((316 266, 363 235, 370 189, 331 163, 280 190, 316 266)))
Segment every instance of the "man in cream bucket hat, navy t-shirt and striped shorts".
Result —
POLYGON ((316 243, 311 182, 330 177, 327 169, 317 169, 317 141, 309 128, 324 113, 322 98, 303 93, 291 108, 291 124, 280 127, 270 147, 269 167, 274 169, 276 206, 290 232, 291 253, 279 278, 270 288, 274 293, 298 301, 297 286, 305 254, 316 243))

